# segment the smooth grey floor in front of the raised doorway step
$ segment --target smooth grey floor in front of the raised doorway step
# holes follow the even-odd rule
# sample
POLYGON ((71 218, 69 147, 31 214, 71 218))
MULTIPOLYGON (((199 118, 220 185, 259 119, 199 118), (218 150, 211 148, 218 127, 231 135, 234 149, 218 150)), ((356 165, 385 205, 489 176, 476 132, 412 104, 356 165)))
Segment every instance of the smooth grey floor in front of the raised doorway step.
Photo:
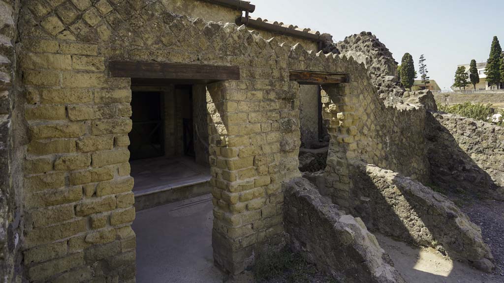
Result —
POLYGON ((212 195, 139 211, 137 282, 222 282, 212 250, 212 195))

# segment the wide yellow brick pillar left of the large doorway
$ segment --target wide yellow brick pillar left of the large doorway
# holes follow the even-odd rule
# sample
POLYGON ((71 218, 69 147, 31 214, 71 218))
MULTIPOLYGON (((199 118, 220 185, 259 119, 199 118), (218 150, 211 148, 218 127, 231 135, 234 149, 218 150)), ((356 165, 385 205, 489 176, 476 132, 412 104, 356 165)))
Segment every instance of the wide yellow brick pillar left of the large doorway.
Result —
POLYGON ((21 61, 28 279, 134 282, 130 80, 92 44, 34 39, 21 61))

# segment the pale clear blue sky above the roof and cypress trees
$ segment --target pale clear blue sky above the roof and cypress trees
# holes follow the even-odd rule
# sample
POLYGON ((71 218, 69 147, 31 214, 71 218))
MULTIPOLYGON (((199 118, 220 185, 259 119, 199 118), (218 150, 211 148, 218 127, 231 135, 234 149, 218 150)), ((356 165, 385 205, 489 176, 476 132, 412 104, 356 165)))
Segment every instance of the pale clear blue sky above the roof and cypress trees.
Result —
POLYGON ((431 79, 453 84, 458 64, 485 61, 496 35, 504 47, 503 0, 249 0, 252 17, 330 33, 335 41, 370 31, 400 62, 409 52, 418 70, 425 54, 431 79))

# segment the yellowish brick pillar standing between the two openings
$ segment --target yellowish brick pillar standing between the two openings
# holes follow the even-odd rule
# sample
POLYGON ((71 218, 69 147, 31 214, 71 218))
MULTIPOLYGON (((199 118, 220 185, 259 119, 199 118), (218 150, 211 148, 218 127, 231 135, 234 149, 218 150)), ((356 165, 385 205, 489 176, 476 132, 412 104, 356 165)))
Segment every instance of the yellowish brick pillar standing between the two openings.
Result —
POLYGON ((279 103, 273 81, 257 83, 208 86, 214 259, 233 274, 283 232, 279 103))

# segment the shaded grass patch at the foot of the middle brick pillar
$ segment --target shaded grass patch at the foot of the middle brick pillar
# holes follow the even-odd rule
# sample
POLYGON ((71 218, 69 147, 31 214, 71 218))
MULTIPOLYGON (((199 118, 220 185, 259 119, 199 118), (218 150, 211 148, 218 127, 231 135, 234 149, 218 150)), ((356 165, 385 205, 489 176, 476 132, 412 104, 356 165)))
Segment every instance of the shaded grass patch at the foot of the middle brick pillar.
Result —
POLYGON ((288 247, 280 251, 268 250, 261 254, 254 266, 254 276, 259 283, 338 283, 336 279, 317 270, 300 254, 288 247))

